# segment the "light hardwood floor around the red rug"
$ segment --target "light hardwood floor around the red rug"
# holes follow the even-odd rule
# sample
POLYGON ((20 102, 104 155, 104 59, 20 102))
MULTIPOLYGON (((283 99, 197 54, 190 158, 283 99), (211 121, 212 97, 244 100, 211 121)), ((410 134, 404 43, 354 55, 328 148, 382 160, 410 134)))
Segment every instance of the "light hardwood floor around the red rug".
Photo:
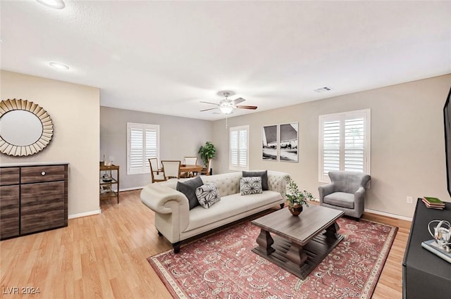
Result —
MULTIPOLYGON (((373 298, 402 298, 410 222, 369 213, 364 218, 399 227, 373 298)), ((170 248, 156 234, 154 213, 141 203, 140 190, 121 192, 121 203, 104 201, 100 215, 1 241, 0 298, 171 298, 146 260, 170 248), (25 287, 40 293, 22 294, 25 287)))

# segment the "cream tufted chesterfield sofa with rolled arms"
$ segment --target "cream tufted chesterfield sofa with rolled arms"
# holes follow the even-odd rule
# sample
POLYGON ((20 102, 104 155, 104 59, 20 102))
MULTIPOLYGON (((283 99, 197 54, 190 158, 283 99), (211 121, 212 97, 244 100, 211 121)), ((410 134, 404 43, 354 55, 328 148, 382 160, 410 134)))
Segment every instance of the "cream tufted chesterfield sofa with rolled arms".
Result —
MULTIPOLYGON (((141 201, 155 212, 155 227, 180 251, 180 243, 224 224, 273 208, 286 201, 285 172, 268 171, 268 191, 242 196, 240 179, 242 172, 202 176, 202 182, 214 182, 221 201, 209 209, 197 205, 190 210, 185 194, 176 190, 178 179, 149 184, 141 191, 141 201)), ((183 181, 183 179, 180 179, 183 181)))

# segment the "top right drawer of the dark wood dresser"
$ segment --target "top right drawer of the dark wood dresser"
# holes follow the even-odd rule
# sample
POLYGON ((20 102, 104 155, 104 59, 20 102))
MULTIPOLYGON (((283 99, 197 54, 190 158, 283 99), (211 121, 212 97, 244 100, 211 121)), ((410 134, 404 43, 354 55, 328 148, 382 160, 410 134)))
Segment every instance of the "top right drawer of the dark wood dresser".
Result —
POLYGON ((38 183, 63 181, 65 179, 66 165, 30 166, 20 170, 20 183, 38 183))

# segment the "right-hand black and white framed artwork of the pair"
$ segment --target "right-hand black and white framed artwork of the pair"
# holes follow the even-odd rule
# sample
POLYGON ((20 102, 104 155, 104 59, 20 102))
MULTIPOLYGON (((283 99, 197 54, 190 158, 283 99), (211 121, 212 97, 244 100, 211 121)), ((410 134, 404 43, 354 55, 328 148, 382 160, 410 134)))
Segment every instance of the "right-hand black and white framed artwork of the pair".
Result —
POLYGON ((297 141, 298 123, 279 125, 279 160, 283 162, 298 162, 297 141))

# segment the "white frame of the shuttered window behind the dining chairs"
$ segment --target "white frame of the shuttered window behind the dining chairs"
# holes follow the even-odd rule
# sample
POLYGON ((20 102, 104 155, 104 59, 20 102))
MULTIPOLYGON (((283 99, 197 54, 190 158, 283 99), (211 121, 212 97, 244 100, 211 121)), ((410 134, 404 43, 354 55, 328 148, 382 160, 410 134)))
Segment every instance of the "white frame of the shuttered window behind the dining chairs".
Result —
POLYGON ((150 165, 149 158, 146 157, 146 137, 145 133, 147 129, 156 130, 156 158, 160 160, 160 125, 151 125, 151 124, 142 124, 137 122, 127 122, 127 174, 149 174, 150 173, 150 165), (144 156, 142 157, 142 167, 140 168, 131 168, 131 131, 132 129, 142 129, 143 133, 143 143, 142 150, 144 156))

